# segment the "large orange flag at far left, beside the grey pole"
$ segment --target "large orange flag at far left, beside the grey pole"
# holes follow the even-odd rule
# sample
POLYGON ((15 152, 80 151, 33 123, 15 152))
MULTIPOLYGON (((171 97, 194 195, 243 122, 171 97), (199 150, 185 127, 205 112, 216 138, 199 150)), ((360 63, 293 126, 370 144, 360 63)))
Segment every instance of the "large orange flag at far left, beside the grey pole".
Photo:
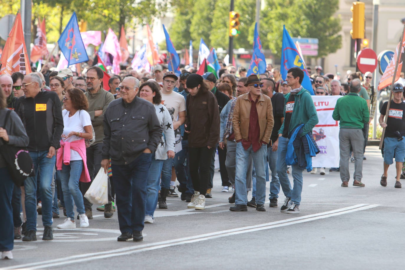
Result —
POLYGON ((11 28, 9 38, 4 45, 0 58, 0 74, 11 75, 14 72, 30 74, 31 66, 28 59, 27 48, 24 42, 23 26, 21 14, 17 12, 13 28, 11 28))

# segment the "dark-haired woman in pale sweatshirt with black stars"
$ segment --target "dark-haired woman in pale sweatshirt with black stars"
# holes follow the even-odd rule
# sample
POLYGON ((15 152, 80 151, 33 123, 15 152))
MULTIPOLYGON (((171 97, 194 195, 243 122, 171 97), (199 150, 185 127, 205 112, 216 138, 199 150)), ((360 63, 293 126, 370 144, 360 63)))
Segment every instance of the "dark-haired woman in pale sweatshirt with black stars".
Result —
MULTIPOLYGON (((147 179, 145 223, 153 223, 153 213, 155 212, 156 201, 158 200, 159 180, 160 175, 162 174, 163 164, 165 160, 173 160, 173 157, 175 156, 175 132, 170 128, 173 125, 172 117, 166 106, 162 105, 162 96, 156 83, 143 83, 139 87, 137 96, 151 102, 153 106, 155 106, 156 116, 158 117, 160 126, 163 127, 163 134, 160 138, 158 148, 155 153, 152 153, 151 167, 147 179)), ((164 191, 161 193, 163 194, 160 196, 161 198, 164 197, 164 200, 159 200, 159 208, 167 209, 165 196, 167 191, 166 194, 164 191)))

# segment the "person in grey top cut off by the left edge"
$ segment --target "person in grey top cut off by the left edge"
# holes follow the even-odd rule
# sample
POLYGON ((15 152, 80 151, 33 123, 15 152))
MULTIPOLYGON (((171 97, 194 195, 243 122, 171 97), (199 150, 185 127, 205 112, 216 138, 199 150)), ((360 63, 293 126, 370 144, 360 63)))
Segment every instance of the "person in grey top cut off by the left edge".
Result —
MULTIPOLYGON (((29 139, 21 119, 14 111, 11 111, 9 117, 6 119, 8 111, 9 110, 6 108, 6 96, 4 95, 4 90, 0 89, 0 149, 5 143, 17 147, 26 147, 29 139)), ((2 177, 2 180, 0 181, 0 202, 3 206, 2 218, 0 219, 0 251, 2 259, 13 259, 13 254, 11 253, 14 248, 15 230, 13 230, 13 227, 17 224, 13 221, 14 209, 11 204, 11 198, 13 196, 13 190, 19 189, 19 187, 14 184, 13 179, 11 178, 11 173, 6 167, 6 160, 1 153, 0 175, 2 177)), ((36 213, 35 210, 34 212, 36 213)), ((19 227, 21 227, 21 225, 19 225, 19 227)))

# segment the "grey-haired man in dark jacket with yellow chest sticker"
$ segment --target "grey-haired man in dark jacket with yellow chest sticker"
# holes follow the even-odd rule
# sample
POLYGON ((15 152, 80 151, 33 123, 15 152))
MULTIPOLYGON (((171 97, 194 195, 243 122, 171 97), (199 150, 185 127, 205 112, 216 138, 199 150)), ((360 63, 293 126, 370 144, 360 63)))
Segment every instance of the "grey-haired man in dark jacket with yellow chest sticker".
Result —
POLYGON ((34 176, 24 181, 27 231, 23 241, 36 241, 38 170, 42 223, 45 227, 42 240, 53 240, 51 182, 55 151, 60 147, 59 140, 63 132, 63 119, 58 95, 53 91, 41 91, 42 83, 38 74, 26 75, 21 84, 25 96, 19 98, 24 108, 26 131, 30 138, 27 149, 34 163, 34 176))

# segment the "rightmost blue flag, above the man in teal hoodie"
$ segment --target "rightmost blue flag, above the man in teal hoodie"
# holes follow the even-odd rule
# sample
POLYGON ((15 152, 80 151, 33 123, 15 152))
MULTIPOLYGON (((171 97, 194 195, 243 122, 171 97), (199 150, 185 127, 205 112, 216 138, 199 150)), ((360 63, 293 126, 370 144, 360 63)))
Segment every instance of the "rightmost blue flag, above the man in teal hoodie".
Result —
POLYGON ((286 30, 286 26, 283 29, 283 48, 281 49, 281 77, 285 80, 287 77, 287 71, 290 68, 298 67, 304 71, 304 79, 301 85, 313 95, 313 89, 311 81, 309 81, 309 75, 307 67, 304 64, 304 61, 301 59, 300 53, 298 53, 297 47, 292 41, 290 34, 286 30))

